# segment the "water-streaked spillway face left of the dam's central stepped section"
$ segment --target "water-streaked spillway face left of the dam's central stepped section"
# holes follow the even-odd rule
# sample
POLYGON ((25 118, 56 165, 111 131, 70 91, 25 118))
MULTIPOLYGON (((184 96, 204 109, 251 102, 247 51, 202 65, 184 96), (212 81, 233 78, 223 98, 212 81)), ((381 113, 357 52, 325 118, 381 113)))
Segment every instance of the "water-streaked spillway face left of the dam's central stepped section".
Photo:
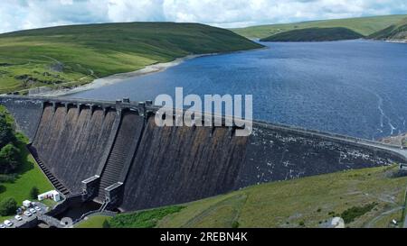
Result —
POLYGON ((100 108, 45 105, 32 147, 71 193, 80 193, 80 182, 95 175, 107 151, 115 118, 100 108))

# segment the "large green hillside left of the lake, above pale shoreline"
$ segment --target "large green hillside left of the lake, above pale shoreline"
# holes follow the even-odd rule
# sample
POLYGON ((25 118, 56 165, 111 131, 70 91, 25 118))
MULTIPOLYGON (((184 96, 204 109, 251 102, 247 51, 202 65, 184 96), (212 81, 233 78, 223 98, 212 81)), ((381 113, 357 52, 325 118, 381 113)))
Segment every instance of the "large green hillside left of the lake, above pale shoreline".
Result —
POLYGON ((260 45, 197 23, 105 23, 0 34, 0 93, 73 87, 189 54, 260 45))

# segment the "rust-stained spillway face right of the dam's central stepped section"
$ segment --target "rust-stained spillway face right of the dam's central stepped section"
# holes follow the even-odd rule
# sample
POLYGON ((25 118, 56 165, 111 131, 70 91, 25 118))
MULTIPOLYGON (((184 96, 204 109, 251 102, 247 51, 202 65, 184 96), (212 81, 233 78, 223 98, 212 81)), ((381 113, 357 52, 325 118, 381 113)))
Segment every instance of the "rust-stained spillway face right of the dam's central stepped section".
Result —
POLYGON ((247 140, 226 127, 156 127, 150 117, 128 172, 122 207, 180 204, 231 191, 247 140))

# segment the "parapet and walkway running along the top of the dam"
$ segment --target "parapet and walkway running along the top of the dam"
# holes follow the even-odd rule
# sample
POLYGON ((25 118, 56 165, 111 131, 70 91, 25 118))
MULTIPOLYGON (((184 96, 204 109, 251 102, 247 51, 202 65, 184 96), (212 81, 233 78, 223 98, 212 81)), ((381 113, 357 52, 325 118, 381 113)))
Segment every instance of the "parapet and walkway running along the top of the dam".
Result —
MULTIPOLYGON (((0 96, 0 102, 6 102, 9 100, 13 101, 31 101, 36 103, 52 104, 52 105, 87 105, 90 107, 99 107, 99 108, 111 108, 121 111, 123 109, 133 109, 138 112, 139 115, 148 117, 151 114, 156 114, 156 112, 161 108, 160 106, 152 105, 152 101, 142 102, 142 103, 133 103, 128 99, 117 100, 116 102, 104 101, 104 100, 90 100, 82 98, 66 98, 66 97, 47 97, 47 96, 0 96)), ((179 114, 185 113, 185 110, 175 110, 176 117, 179 114)), ((229 116, 224 115, 213 115, 213 114, 201 114, 204 119, 208 117, 214 121, 215 118, 222 118, 222 123, 226 121, 226 118, 229 116)), ((204 121, 204 120, 203 120, 204 121)), ((245 122, 241 120, 241 122, 245 122)), ((338 134, 335 132, 323 132, 318 130, 306 129, 298 126, 292 126, 281 123, 268 123, 264 121, 253 121, 253 129, 270 129, 277 130, 282 132, 291 132, 299 135, 305 135, 310 137, 318 137, 327 141, 336 141, 346 144, 351 144, 354 146, 372 148, 373 150, 385 150, 386 152, 396 154, 400 158, 404 159, 407 162, 407 149, 393 144, 383 143, 380 141, 372 141, 357 137, 348 136, 345 134, 338 134)))

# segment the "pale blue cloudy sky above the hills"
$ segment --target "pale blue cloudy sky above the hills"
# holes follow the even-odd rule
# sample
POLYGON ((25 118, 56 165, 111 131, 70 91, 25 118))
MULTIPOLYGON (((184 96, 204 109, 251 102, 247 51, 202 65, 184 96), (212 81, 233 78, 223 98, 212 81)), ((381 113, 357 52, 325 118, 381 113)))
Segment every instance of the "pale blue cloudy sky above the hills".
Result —
POLYGON ((407 14, 406 0, 1 0, 0 33, 118 22, 267 23, 407 14))

